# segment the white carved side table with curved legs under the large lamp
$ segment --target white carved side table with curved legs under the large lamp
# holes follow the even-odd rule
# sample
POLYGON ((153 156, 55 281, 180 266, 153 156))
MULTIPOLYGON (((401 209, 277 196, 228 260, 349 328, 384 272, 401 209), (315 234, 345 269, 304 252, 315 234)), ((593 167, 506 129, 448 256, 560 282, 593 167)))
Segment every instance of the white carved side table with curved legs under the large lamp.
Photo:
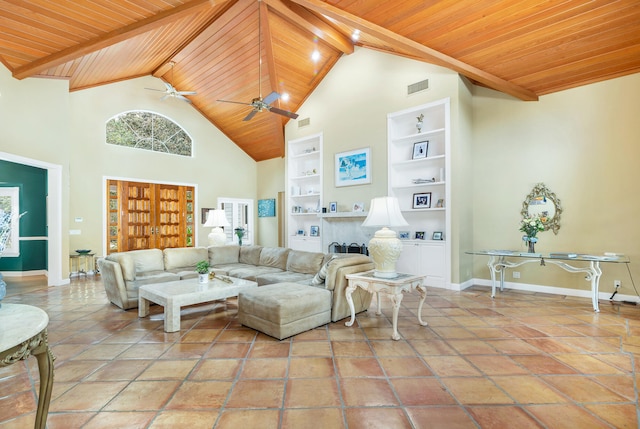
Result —
POLYGON ((420 293, 420 304, 418 305, 418 322, 421 326, 427 326, 427 322, 422 321, 422 305, 427 298, 427 288, 424 286, 425 276, 416 276, 412 274, 400 274, 393 279, 384 279, 381 277, 375 277, 373 271, 367 271, 364 273, 347 274, 346 278, 349 282, 347 289, 345 290, 347 303, 349 303, 349 309, 351 310, 351 320, 345 323, 346 326, 353 325, 356 320, 355 308, 353 307, 353 298, 351 294, 356 288, 364 289, 368 292, 375 293, 378 298, 378 311, 377 315, 382 314, 380 310, 380 292, 386 293, 391 298, 393 303, 393 334, 391 338, 398 341, 400 335, 398 334, 398 310, 400 309, 400 303, 402 302, 402 292, 411 292, 417 290, 420 293))

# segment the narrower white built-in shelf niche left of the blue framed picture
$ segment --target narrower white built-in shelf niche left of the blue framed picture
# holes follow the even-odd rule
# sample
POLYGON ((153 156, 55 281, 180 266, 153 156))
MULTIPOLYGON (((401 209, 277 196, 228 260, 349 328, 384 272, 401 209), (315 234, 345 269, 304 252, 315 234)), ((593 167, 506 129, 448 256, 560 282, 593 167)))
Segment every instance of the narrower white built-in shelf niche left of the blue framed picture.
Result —
POLYGON ((321 252, 322 133, 287 143, 287 246, 321 252), (312 228, 315 227, 315 228, 312 228))

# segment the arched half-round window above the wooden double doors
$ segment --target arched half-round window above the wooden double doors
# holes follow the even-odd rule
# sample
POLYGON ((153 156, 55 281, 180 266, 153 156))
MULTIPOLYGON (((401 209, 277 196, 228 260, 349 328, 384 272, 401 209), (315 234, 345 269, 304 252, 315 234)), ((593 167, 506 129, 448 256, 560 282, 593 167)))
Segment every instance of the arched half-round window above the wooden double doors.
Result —
POLYGON ((107 144, 191 156, 189 134, 171 119, 153 112, 135 110, 107 121, 107 144))

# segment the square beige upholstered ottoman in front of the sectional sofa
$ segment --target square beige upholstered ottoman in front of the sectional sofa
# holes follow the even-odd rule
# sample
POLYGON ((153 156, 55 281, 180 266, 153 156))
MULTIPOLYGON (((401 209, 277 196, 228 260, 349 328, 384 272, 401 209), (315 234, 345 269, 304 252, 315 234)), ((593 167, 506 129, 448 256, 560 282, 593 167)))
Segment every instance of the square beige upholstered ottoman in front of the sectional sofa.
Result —
POLYGON ((240 323, 283 338, 331 322, 331 292, 297 283, 276 283, 240 292, 240 323))

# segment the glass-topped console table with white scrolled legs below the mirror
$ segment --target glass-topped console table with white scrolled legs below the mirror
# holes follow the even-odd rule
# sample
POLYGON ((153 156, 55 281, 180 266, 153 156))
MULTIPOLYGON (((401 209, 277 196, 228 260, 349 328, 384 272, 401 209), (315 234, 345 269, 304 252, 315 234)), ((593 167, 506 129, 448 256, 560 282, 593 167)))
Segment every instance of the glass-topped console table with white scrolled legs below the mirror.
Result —
POLYGON ((629 258, 624 255, 586 255, 583 253, 527 253, 515 250, 472 250, 466 252, 470 255, 489 256, 489 272, 491 273, 491 298, 496 296, 496 274, 500 274, 500 291, 504 289, 504 272, 507 268, 515 268, 520 265, 539 262, 541 266, 547 263, 557 265, 570 273, 585 273, 585 280, 591 282, 591 300, 593 310, 600 311, 598 307, 598 287, 602 270, 600 263, 628 264, 629 258), (586 266, 574 266, 571 262, 588 262, 586 266))

